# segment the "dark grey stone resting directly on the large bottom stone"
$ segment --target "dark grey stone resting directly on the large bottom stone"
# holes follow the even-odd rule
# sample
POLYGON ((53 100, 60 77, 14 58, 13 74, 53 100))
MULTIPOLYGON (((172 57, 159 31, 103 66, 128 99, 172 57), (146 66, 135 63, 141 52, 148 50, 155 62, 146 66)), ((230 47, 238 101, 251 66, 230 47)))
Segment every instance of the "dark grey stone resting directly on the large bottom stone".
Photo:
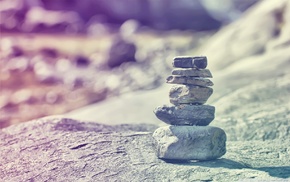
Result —
POLYGON ((170 125, 207 126, 214 120, 215 107, 188 104, 159 106, 154 113, 158 119, 170 125))

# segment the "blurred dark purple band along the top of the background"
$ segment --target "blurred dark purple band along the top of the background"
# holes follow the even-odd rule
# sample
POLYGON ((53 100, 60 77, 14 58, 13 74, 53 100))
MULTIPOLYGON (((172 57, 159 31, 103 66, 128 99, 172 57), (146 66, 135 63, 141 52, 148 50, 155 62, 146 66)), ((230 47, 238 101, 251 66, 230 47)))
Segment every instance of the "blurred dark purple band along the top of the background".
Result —
POLYGON ((20 32, 88 32, 86 24, 137 20, 159 30, 213 30, 237 19, 257 0, 2 0, 1 29, 20 32), (96 17, 99 17, 96 21, 96 17))

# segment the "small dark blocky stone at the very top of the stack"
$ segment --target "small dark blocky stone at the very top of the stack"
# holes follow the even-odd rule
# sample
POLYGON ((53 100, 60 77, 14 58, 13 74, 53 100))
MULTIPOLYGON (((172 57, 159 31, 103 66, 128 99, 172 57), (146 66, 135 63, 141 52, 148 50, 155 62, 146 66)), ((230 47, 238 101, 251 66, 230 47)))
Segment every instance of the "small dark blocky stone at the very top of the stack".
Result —
POLYGON ((205 56, 189 57, 180 56, 173 60, 173 67, 175 68, 198 68, 205 69, 207 66, 207 58, 205 56))

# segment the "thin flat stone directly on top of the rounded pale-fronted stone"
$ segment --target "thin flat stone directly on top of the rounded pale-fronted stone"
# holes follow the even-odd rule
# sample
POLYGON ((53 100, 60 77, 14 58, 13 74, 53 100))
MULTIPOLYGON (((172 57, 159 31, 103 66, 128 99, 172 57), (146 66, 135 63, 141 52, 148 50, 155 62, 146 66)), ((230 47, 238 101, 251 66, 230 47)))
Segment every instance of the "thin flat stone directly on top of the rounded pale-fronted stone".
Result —
POLYGON ((198 85, 198 86, 213 86, 212 81, 205 78, 188 77, 188 76, 169 76, 166 79, 166 83, 170 84, 186 84, 186 85, 198 85))

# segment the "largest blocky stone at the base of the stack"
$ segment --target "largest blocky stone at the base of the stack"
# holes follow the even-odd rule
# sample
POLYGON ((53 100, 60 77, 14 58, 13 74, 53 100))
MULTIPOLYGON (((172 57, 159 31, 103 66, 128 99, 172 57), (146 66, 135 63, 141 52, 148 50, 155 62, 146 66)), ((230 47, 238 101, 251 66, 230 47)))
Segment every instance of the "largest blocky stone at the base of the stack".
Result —
POLYGON ((212 126, 165 126, 153 133, 157 157, 212 160, 226 153, 226 134, 212 126))

